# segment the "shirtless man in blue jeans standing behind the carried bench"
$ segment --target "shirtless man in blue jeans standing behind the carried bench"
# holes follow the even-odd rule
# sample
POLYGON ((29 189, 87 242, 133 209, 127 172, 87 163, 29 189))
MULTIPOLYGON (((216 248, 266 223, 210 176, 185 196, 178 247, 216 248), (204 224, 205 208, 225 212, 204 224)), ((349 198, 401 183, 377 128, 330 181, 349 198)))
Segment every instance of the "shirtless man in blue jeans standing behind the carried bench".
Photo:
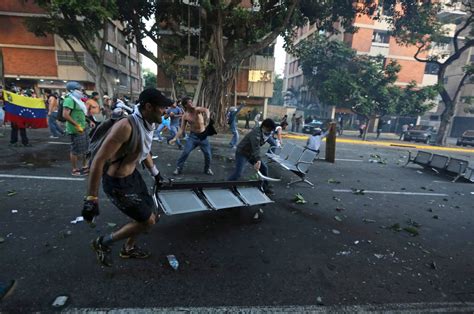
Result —
POLYGON ((193 101, 189 97, 184 97, 181 101, 184 106, 185 113, 182 117, 181 128, 178 134, 170 141, 173 144, 183 134, 186 123, 189 123, 191 132, 189 138, 184 146, 183 153, 179 157, 176 163, 176 170, 173 171, 174 175, 181 174, 183 172, 184 162, 188 158, 189 154, 196 148, 200 147, 204 154, 204 173, 207 175, 214 175, 211 170, 211 144, 207 138, 205 132, 206 125, 209 123, 209 109, 204 107, 196 107, 193 101))

